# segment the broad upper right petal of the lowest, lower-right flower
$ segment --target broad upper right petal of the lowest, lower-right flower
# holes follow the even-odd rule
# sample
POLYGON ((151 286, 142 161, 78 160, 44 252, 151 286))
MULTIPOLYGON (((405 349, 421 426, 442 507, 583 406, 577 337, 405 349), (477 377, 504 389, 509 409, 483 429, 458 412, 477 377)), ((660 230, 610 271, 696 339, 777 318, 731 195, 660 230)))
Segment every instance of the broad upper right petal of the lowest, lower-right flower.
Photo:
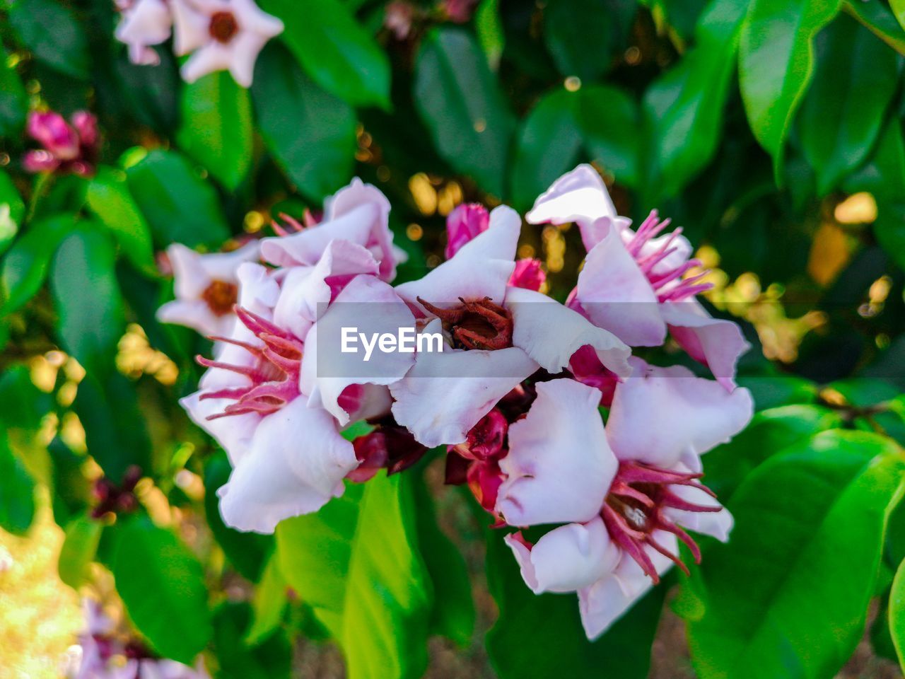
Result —
POLYGON ((632 377, 615 388, 606 434, 620 460, 672 468, 689 452, 729 441, 751 419, 748 389, 732 393, 688 368, 655 368, 629 359, 632 377))

